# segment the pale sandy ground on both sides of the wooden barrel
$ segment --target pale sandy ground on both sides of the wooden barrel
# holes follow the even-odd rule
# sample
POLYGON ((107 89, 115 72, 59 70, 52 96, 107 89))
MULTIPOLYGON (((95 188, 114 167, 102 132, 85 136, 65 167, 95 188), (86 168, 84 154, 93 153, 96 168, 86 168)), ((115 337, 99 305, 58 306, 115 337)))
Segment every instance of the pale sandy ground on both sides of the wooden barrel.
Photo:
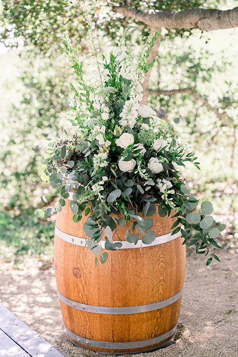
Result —
MULTIPOLYGON (((141 356, 238 357, 238 255, 228 250, 219 253, 222 264, 208 267, 204 257, 187 257, 175 343, 141 356)), ((0 274, 0 302, 65 357, 100 356, 67 340, 53 267, 0 274)))

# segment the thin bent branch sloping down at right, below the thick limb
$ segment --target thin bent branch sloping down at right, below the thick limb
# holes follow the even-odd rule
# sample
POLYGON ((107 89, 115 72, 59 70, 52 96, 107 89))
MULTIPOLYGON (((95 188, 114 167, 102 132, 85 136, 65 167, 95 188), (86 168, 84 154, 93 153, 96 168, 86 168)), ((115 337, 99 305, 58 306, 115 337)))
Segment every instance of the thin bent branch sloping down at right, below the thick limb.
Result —
POLYGON ((216 108, 213 108, 205 98, 200 97, 193 88, 187 87, 187 88, 179 88, 179 89, 171 89, 171 90, 150 90, 149 91, 149 94, 157 95, 157 96, 173 95, 173 94, 178 94, 178 93, 190 93, 196 100, 202 102, 202 104, 204 104, 208 109, 210 109, 212 112, 214 112, 216 114, 216 116, 220 120, 222 120, 225 125, 232 127, 230 122, 227 120, 227 114, 225 112, 220 114, 218 112, 218 110, 216 108))

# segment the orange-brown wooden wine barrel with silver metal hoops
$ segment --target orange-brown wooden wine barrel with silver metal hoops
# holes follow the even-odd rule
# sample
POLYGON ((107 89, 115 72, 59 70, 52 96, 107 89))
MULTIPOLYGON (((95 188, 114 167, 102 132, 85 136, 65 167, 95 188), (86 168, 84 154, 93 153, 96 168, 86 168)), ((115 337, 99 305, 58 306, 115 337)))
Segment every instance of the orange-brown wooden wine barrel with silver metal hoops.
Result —
MULTIPOLYGON (((57 214, 55 272, 68 339, 101 354, 150 352, 172 343, 179 318, 185 273, 183 239, 171 235, 175 218, 154 220, 150 245, 128 243, 108 251, 103 266, 86 247, 80 223, 72 221, 69 200, 57 214)), ((103 242, 102 242, 103 243, 103 242)))

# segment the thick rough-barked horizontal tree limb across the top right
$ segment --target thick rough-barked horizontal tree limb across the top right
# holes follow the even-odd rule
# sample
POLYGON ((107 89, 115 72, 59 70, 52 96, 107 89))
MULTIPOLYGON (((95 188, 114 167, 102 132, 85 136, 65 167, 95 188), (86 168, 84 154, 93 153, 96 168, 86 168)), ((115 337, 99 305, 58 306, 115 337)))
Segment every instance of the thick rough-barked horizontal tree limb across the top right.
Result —
POLYGON ((232 10, 191 9, 185 11, 140 11, 130 6, 113 6, 114 12, 130 16, 153 28, 198 28, 213 31, 238 27, 238 7, 232 10))

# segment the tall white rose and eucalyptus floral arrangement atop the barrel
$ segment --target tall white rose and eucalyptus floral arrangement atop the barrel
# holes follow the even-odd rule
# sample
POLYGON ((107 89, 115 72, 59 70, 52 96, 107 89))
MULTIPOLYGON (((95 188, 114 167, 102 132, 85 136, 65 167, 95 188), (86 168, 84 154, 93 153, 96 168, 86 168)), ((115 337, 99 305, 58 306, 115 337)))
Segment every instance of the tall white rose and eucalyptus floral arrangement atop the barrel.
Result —
MULTIPOLYGON (((48 138, 48 153, 42 179, 50 181, 60 194, 55 210, 60 212, 69 192, 74 191, 70 208, 73 221, 88 217, 83 230, 87 246, 96 255, 96 265, 105 263, 107 251, 100 240, 106 234, 106 250, 120 246, 118 226, 124 228, 125 238, 136 244, 141 238, 150 244, 156 238, 153 231, 155 213, 161 217, 173 215, 177 220, 172 234, 181 233, 184 243, 195 245, 196 253, 213 253, 220 247, 214 238, 225 229, 214 221, 212 204, 198 200, 189 192, 179 166, 196 157, 179 144, 173 125, 157 117, 149 106, 140 105, 144 72, 150 50, 158 33, 141 47, 137 58, 132 58, 126 46, 126 31, 118 47, 110 56, 100 58, 93 41, 97 71, 92 73, 94 85, 88 86, 82 75, 79 50, 69 40, 65 54, 77 74, 80 89, 71 85, 75 93, 73 125, 76 132, 68 137, 66 130, 52 133, 48 138), (135 234, 135 229, 139 233, 135 234), (193 234, 191 233, 193 232, 193 234), (114 242, 117 237, 117 242, 114 242)), ((179 119, 174 120, 178 122, 179 119)), ((46 197, 44 198, 46 201, 46 197)), ((38 209, 36 215, 45 217, 52 207, 38 209)))

